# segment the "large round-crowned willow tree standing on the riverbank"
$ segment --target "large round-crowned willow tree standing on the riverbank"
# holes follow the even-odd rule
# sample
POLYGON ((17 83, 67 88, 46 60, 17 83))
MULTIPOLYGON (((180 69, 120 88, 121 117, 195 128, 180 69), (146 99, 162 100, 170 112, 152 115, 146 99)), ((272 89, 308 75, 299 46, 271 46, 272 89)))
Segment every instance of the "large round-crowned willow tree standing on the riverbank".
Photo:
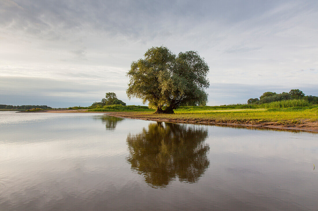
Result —
POLYGON ((149 48, 145 58, 131 63, 128 98, 142 99, 156 113, 173 113, 182 105, 207 102, 204 91, 210 83, 209 67, 196 51, 180 52, 178 56, 166 47, 149 48))

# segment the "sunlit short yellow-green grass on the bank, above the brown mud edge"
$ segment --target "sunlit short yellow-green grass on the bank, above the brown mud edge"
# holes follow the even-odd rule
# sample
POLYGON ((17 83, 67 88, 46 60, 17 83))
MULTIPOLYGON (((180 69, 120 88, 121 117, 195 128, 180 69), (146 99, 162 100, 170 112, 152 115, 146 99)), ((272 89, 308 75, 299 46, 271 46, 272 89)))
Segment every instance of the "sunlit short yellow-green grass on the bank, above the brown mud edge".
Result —
POLYGON ((271 104, 271 107, 277 108, 268 109, 238 109, 237 107, 239 106, 241 105, 232 105, 232 107, 187 106, 176 109, 175 114, 154 114, 152 112, 128 112, 126 114, 121 114, 121 116, 146 119, 167 119, 173 121, 187 122, 194 121, 237 124, 251 123, 251 121, 253 121, 253 124, 272 122, 277 125, 293 125, 301 124, 303 122, 315 122, 318 120, 317 105, 280 108, 280 104, 271 104))

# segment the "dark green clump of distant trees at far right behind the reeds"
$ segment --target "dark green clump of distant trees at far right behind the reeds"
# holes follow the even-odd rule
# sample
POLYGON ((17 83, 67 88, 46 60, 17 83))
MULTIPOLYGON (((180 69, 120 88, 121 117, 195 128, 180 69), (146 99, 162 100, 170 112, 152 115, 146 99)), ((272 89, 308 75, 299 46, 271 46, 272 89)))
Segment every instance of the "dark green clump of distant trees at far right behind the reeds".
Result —
POLYGON ((247 100, 247 104, 263 104, 263 103, 270 103, 275 101, 281 101, 281 100, 290 100, 290 99, 304 99, 308 100, 308 102, 313 104, 318 104, 318 97, 308 95, 305 96, 305 94, 299 90, 299 89, 292 89, 287 92, 282 92, 280 94, 277 94, 275 92, 265 92, 262 94, 262 96, 258 98, 250 98, 247 100))

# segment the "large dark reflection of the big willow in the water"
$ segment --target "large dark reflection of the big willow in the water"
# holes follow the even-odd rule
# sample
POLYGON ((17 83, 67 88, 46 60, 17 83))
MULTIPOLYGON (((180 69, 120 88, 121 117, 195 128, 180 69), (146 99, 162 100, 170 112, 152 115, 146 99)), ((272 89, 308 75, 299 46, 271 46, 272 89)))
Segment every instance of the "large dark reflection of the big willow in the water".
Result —
POLYGON ((128 163, 152 187, 166 187, 176 177, 182 182, 197 182, 210 164, 210 148, 203 143, 208 132, 187 125, 164 125, 152 123, 148 130, 128 135, 128 163))

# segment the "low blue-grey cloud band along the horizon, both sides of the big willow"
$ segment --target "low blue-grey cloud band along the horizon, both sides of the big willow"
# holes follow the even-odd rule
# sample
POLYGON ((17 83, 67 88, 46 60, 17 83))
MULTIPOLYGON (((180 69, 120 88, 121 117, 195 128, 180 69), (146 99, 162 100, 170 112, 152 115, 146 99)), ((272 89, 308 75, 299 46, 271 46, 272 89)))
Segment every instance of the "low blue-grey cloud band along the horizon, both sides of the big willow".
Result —
MULTIPOLYGON (((289 92, 301 89, 306 95, 318 95, 318 85, 244 85, 231 83, 213 83, 207 90, 208 105, 224 105, 246 103, 250 98, 259 98, 262 93, 289 92)), ((117 83, 86 84, 77 80, 54 80, 45 78, 1 77, 0 104, 25 105, 38 104, 53 107, 69 107, 74 105, 88 106, 100 101, 105 92, 115 92, 119 99, 128 105, 142 105, 140 99, 128 100, 126 86, 117 83)))

